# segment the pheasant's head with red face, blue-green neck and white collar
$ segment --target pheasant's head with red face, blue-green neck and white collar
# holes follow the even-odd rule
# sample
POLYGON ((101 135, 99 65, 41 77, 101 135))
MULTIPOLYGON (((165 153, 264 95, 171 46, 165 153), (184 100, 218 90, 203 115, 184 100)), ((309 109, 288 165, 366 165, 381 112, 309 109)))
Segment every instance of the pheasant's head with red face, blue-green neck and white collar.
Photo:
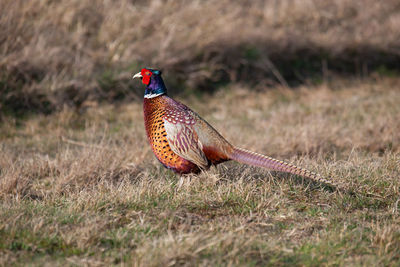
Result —
POLYGON ((135 78, 142 79, 142 83, 146 85, 145 98, 153 98, 167 93, 160 70, 144 68, 133 76, 133 79, 135 78))

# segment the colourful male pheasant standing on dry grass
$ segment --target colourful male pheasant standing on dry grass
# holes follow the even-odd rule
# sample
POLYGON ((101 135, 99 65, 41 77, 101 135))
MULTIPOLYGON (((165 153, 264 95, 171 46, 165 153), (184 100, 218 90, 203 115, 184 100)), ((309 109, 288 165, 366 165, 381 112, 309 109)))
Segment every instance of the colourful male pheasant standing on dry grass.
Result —
POLYGON ((198 173, 228 160, 300 175, 338 188, 338 184, 293 164, 231 145, 208 122, 184 104, 168 97, 161 71, 144 68, 144 123, 157 159, 179 174, 198 173))

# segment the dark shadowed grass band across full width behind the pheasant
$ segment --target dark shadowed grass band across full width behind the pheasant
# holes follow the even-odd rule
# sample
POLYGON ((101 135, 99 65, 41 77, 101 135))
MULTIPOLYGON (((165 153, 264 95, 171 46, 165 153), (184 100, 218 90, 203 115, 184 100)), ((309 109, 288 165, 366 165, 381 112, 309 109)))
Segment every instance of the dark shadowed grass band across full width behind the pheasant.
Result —
MULTIPOLYGON (((23 71, 0 70, 0 116, 49 114, 64 106, 85 110, 88 103, 141 101, 144 88, 132 81, 130 74, 142 67, 146 66, 138 62, 125 67, 98 66, 90 78, 93 81, 75 80, 74 74, 68 74, 71 82, 56 91, 46 89, 50 85, 44 67, 28 62, 23 71)), ((212 94, 230 82, 262 90, 276 84, 319 83, 338 75, 366 77, 374 72, 394 76, 400 71, 400 54, 367 45, 335 51, 312 44, 289 47, 277 41, 251 40, 214 43, 189 58, 159 62, 155 67, 164 70, 170 95, 185 96, 212 94)))

